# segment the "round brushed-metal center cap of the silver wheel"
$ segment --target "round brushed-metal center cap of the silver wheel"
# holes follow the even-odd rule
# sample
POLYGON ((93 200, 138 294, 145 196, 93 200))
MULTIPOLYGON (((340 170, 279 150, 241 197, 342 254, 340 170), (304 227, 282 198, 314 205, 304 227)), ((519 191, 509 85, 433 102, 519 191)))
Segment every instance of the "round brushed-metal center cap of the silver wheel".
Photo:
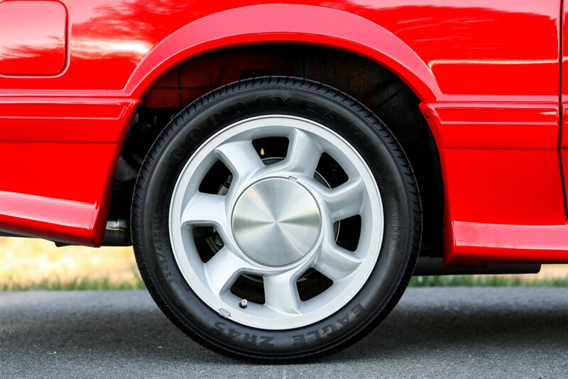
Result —
POLYGON ((320 208, 294 180, 269 178, 237 199, 232 226, 246 256, 262 265, 290 265, 309 253, 320 236, 320 208))

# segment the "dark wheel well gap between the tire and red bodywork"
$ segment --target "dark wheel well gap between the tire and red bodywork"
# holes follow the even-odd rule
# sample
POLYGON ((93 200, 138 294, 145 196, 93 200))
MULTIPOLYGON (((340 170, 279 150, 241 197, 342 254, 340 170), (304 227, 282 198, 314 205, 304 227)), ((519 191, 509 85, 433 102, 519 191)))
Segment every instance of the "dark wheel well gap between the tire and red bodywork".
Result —
POLYGON ((442 170, 420 99, 390 70, 353 53, 312 45, 255 45, 200 55, 158 78, 129 128, 113 180, 111 218, 129 219, 133 181, 143 158, 170 119, 202 94, 264 75, 304 77, 346 92, 393 131, 413 165, 422 198, 422 255, 442 256, 442 170))

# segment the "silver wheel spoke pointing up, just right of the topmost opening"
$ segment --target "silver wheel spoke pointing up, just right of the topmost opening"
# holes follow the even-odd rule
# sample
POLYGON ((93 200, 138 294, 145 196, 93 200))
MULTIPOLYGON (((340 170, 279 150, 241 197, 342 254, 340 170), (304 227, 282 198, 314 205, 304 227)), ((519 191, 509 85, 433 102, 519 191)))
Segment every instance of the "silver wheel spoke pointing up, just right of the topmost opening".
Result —
POLYGON ((321 156, 322 148, 315 139, 307 132, 295 129, 281 166, 290 173, 312 177, 321 156))

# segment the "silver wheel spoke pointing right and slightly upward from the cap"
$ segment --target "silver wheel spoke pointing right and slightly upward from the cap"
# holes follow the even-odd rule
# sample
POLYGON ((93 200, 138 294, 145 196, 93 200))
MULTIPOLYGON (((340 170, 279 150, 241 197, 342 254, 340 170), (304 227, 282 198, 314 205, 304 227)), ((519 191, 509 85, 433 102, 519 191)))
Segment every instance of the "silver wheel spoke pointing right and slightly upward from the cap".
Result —
POLYGON ((323 186, 318 186, 317 189, 333 221, 361 214, 365 195, 365 186, 361 178, 349 180, 334 189, 323 186))

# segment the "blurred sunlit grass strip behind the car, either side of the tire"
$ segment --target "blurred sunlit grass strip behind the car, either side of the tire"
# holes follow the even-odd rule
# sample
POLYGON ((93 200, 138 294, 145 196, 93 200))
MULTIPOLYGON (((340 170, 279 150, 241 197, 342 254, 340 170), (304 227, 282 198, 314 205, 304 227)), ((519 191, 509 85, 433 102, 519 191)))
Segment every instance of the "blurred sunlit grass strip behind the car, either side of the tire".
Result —
MULTIPOLYGON (((538 275, 417 276, 410 287, 567 287, 568 265, 542 266, 538 275)), ((34 238, 0 237, 0 290, 140 290, 131 247, 56 248, 34 238)))

